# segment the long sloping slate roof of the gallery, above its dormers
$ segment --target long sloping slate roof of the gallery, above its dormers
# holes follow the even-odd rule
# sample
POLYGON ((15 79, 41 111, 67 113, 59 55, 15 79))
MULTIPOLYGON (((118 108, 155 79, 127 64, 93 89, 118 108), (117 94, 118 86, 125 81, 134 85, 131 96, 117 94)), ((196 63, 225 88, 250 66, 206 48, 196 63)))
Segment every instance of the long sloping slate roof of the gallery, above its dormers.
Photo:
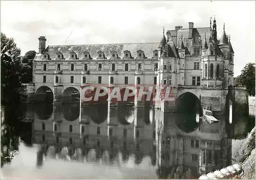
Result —
POLYGON ((126 44, 91 44, 91 45, 55 45, 48 46, 46 52, 51 59, 56 58, 56 53, 61 52, 64 58, 70 57, 70 52, 75 52, 78 59, 83 58, 84 52, 89 52, 93 59, 98 58, 99 51, 102 51, 106 59, 111 59, 113 52, 117 52, 120 58, 124 57, 124 51, 129 50, 132 57, 137 58, 137 51, 142 50, 145 57, 154 57, 154 50, 157 50, 159 43, 126 43, 126 44))

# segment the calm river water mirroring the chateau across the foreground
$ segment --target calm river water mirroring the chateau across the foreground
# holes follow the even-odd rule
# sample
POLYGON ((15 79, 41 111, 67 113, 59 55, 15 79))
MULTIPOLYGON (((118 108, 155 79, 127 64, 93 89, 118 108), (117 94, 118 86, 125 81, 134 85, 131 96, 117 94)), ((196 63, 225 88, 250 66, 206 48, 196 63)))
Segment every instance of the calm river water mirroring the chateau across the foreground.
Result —
POLYGON ((230 165, 255 125, 253 115, 209 124, 197 112, 125 105, 23 104, 1 114, 2 178, 198 178, 230 165))

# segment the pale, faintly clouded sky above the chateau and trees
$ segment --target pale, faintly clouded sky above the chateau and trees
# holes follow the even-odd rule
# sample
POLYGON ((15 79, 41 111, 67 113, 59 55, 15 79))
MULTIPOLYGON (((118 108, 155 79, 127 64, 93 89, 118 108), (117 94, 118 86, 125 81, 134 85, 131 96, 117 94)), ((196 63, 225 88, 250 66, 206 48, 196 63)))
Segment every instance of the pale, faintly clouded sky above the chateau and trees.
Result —
POLYGON ((255 1, 1 1, 1 32, 13 37, 22 55, 48 45, 160 42, 177 25, 223 23, 234 50, 234 76, 255 62, 255 1))

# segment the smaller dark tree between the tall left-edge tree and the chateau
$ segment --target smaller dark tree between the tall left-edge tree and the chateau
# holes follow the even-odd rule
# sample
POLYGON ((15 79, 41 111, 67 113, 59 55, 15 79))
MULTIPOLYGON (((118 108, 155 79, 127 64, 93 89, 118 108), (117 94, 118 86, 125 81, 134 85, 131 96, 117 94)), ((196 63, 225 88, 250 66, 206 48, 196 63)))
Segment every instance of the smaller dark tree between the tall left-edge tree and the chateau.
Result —
POLYGON ((30 50, 22 58, 22 83, 32 83, 33 80, 33 59, 35 58, 36 52, 30 50))

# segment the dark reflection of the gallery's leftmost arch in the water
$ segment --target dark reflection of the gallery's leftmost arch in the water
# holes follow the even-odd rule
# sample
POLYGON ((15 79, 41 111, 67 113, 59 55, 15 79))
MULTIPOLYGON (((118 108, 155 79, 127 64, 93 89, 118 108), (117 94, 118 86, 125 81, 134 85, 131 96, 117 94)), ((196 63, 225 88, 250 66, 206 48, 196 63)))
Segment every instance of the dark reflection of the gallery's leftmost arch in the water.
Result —
POLYGON ((35 104, 35 114, 38 119, 46 120, 52 117, 53 105, 49 104, 35 104))

